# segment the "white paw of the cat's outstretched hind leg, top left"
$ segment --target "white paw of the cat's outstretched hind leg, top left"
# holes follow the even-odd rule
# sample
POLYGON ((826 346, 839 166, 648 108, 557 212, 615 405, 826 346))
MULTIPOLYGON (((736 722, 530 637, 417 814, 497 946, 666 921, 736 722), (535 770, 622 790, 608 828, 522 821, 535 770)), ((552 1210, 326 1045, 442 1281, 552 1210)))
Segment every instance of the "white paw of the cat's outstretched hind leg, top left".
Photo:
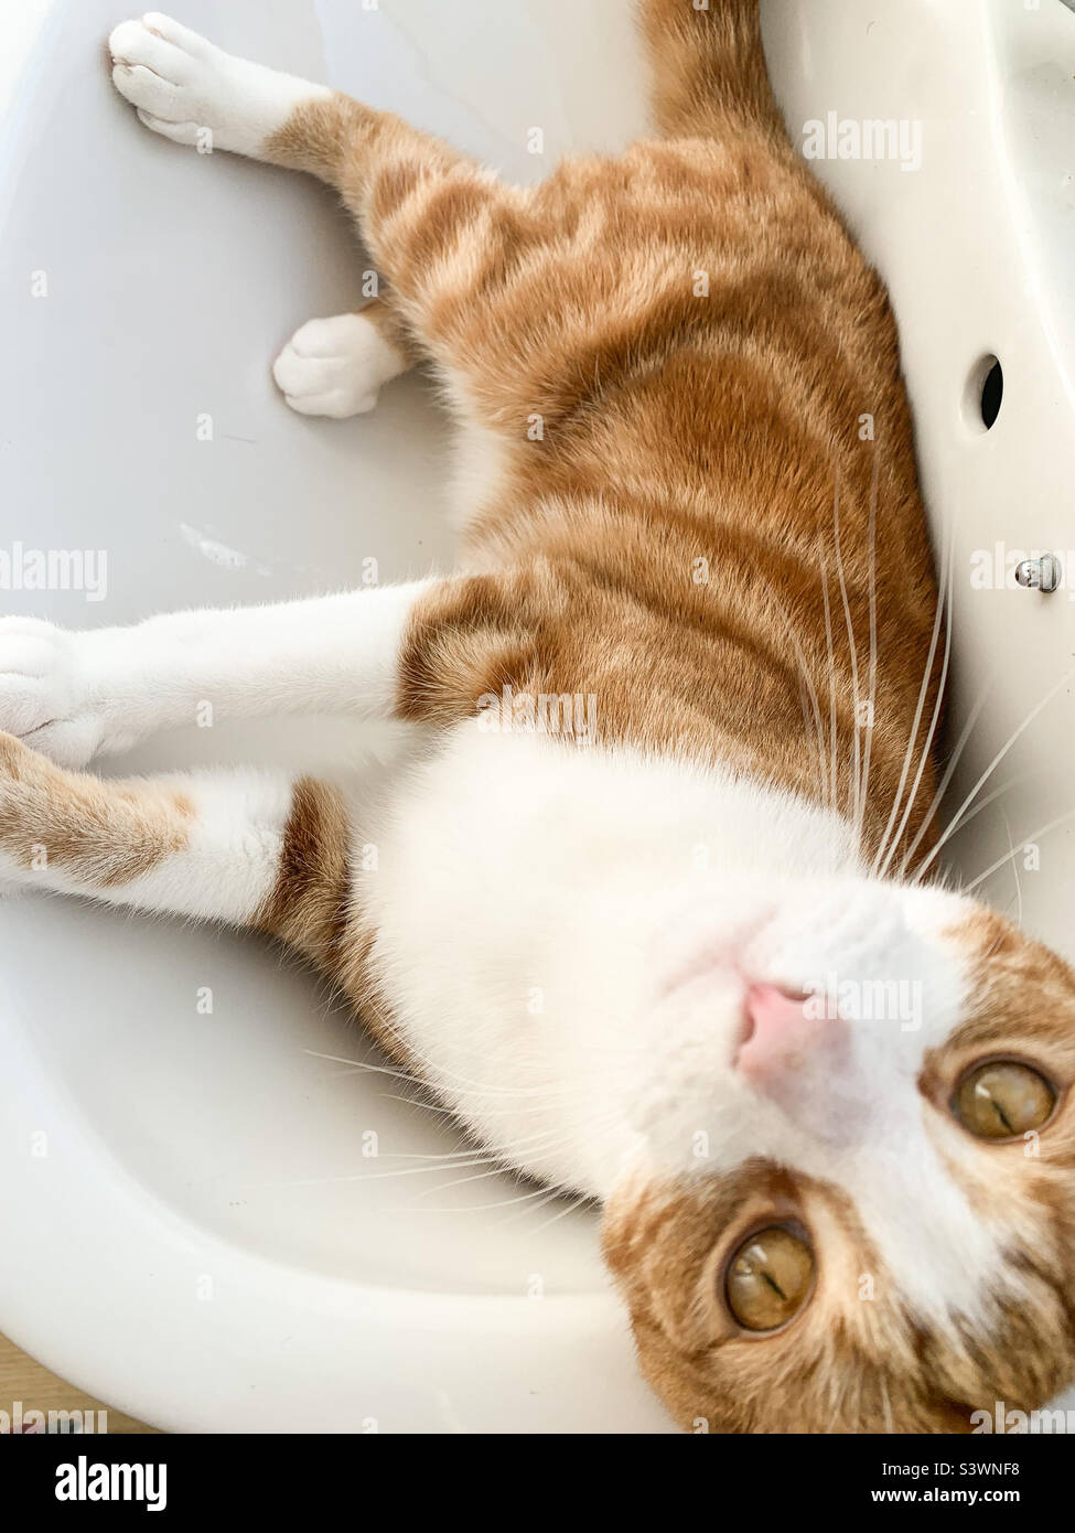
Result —
POLYGON ((109 37, 112 81, 138 117, 176 144, 202 153, 261 153, 296 106, 331 95, 293 75, 233 58, 170 17, 150 11, 109 37))

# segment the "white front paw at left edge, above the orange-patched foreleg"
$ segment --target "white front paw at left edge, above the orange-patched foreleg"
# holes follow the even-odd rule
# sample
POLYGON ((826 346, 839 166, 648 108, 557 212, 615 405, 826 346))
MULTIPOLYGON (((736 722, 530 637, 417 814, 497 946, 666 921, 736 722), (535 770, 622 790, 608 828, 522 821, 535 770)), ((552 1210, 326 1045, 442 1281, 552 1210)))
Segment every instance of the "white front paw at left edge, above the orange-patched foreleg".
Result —
POLYGON ((61 766, 84 766, 104 736, 77 664, 78 639, 51 622, 0 618, 0 731, 61 766))

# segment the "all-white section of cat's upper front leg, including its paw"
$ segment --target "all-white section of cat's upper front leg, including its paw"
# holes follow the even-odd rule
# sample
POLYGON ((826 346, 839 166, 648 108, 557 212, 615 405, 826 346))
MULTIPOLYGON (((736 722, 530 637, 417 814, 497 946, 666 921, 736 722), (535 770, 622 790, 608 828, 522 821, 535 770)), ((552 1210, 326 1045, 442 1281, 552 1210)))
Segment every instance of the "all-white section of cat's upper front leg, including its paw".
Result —
POLYGON ((159 730, 276 713, 391 714, 419 596, 437 581, 69 633, 0 618, 0 730, 63 766, 159 730))

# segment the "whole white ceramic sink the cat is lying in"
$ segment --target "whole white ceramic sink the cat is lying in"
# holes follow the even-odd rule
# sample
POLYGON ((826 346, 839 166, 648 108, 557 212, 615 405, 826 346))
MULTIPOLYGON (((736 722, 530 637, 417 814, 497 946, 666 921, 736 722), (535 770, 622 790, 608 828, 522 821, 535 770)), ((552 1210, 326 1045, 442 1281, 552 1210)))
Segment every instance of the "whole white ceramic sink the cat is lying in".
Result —
MULTIPOLYGON (((175 9, 517 179, 646 121, 624 0, 175 9)), ((446 563, 448 426, 428 386, 400 380, 373 417, 334 423, 293 415, 271 385, 298 323, 360 300, 348 225, 298 176, 141 132, 104 67, 121 18, 113 0, 0 15, 0 547, 107 555, 103 601, 0 601, 84 625, 333 589, 368 558, 382 579, 446 563)), ((923 123, 914 172, 816 169, 893 285, 939 544, 954 526, 955 734, 994 678, 952 806, 1057 685, 1004 762, 1031 777, 958 840, 972 874, 1009 828, 1018 845, 1075 808, 1067 592, 969 579, 997 540, 1075 547, 1075 17, 1060 0, 770 0, 765 29, 793 132, 830 110, 923 123), (968 399, 986 356, 1004 371, 989 432, 968 399)), ((325 725, 319 754, 327 740, 351 747, 325 725)), ((278 730, 215 730, 135 765, 251 753, 314 756, 278 730)), ((1072 826, 1041 839, 1040 871, 1020 865, 1020 894, 1075 957, 1072 826)), ((1009 903, 1011 866, 991 892, 1009 903)), ((465 1145, 396 1076, 357 1067, 383 1061, 275 950, 9 903, 0 1059, 0 1329, 115 1407, 210 1430, 669 1429, 595 1216, 432 1159, 465 1145)))

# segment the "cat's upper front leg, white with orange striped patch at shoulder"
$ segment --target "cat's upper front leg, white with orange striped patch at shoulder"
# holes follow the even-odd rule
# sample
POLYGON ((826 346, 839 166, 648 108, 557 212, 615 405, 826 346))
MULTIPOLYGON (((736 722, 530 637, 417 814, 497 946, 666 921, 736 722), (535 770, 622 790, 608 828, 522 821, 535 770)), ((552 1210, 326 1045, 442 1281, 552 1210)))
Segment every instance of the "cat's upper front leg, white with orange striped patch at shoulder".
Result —
POLYGON ((524 685, 566 601, 544 567, 377 586, 273 607, 176 612, 66 633, 0 618, 0 731, 84 766, 158 730, 348 714, 449 724, 501 681, 524 685))

